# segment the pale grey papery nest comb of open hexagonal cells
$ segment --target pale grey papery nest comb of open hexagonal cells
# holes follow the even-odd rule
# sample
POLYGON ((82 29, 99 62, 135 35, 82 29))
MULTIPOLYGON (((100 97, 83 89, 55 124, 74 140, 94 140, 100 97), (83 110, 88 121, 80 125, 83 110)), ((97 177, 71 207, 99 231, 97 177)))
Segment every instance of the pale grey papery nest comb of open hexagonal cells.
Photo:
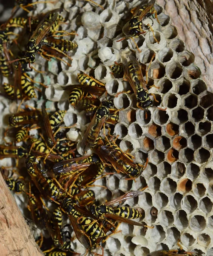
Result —
MULTIPOLYGON (((28 105, 40 107, 45 101, 51 110, 68 109, 65 125, 76 124, 68 137, 79 142, 77 148, 82 154, 80 141, 88 120, 85 111, 77 111, 69 105, 63 87, 77 84, 80 71, 89 73, 105 83, 109 95, 120 93, 114 98, 115 107, 122 109, 114 127, 120 148, 128 150, 137 163, 144 164, 148 158, 148 165, 136 182, 119 174, 99 180, 99 185, 108 187, 108 190, 99 188, 97 198, 101 203, 106 198, 110 200, 148 186, 138 199, 128 200, 126 204, 144 209, 142 221, 153 226, 153 229, 142 229, 122 223, 122 232, 106 241, 104 255, 146 256, 155 250, 176 247, 179 239, 187 251, 199 256, 213 255, 213 95, 200 79, 201 72, 193 63, 194 55, 185 49, 161 6, 155 5, 160 25, 153 17, 145 20, 153 24, 159 44, 147 30, 135 38, 139 52, 131 39, 117 42, 123 32, 126 33, 128 24, 125 23, 131 17, 130 10, 140 4, 138 1, 103 3, 97 0, 104 7, 101 10, 89 2, 65 0, 59 1, 57 6, 40 4, 34 14, 55 9, 62 3, 61 15, 68 19, 62 29, 77 32, 74 42, 78 48, 73 53, 72 66, 54 59, 47 63, 38 57, 37 66, 48 71, 38 78, 48 84, 48 88, 37 95, 38 101, 31 100, 28 105), (149 93, 155 99, 147 113, 136 108, 134 94, 122 93, 129 89, 128 82, 111 74, 110 66, 114 61, 119 63, 121 57, 127 58, 132 52, 147 68, 155 53, 148 71, 148 85, 155 84, 149 93)), ((9 108, 7 105, 8 100, 1 97, 2 122, 14 111, 14 103, 9 102, 9 108)), ((8 159, 1 162, 10 165, 8 159)))

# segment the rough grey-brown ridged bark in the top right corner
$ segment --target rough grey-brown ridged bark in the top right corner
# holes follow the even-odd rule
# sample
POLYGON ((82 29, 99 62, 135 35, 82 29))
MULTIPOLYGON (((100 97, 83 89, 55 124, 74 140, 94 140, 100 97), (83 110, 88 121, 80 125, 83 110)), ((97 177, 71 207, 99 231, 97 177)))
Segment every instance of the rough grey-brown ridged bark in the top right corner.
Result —
POLYGON ((202 79, 213 91, 213 0, 156 0, 165 9, 186 49, 195 55, 202 79))

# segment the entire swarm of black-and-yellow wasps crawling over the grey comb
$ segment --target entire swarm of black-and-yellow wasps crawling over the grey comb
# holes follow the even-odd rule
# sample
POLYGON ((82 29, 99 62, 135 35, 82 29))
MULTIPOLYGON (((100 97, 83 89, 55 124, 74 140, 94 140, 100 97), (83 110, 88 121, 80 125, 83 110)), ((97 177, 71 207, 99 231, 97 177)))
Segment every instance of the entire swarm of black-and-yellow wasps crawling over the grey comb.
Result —
MULTIPOLYGON (((36 3, 31 0, 17 0, 11 18, 0 27, 0 70, 3 76, 13 79, 11 84, 3 84, 11 99, 23 101, 36 97, 31 85, 31 82, 36 81, 27 75, 28 63, 31 68, 30 64, 35 62, 36 54, 47 60, 57 58, 64 61, 62 57, 72 60, 67 52, 77 48, 74 42, 59 38, 75 34, 58 30, 60 23, 65 21, 59 15, 59 10, 32 19, 13 17, 18 7, 28 11, 28 7, 36 3), (24 36, 28 37, 26 45, 19 47, 24 50, 18 54, 11 51, 11 45, 19 39, 13 39, 11 44, 10 37, 17 36, 14 28, 24 29, 24 36), (14 74, 14 77, 10 76, 11 74, 14 74)), ((125 38, 133 40, 134 37, 145 33, 145 29, 151 29, 153 32, 151 25, 145 26, 143 20, 152 15, 157 19, 154 3, 155 0, 151 0, 131 10, 133 17, 129 21, 129 35, 125 38)), ((155 38, 154 32, 153 37, 155 38)), ((159 43, 156 38, 155 40, 159 43)), ((66 61, 65 63, 71 65, 66 61)), ((152 105, 140 64, 134 56, 130 55, 129 61, 122 58, 122 64, 115 63, 111 70, 115 75, 123 75, 129 82, 138 108, 146 109, 152 105)), ((94 251, 117 232, 121 222, 151 228, 134 220, 143 217, 142 209, 121 205, 126 200, 141 195, 143 189, 128 192, 102 204, 95 198, 91 187, 97 186, 94 184, 96 180, 114 173, 122 173, 127 179, 135 180, 142 174, 145 166, 135 163, 131 154, 123 152, 116 144, 117 138, 111 134, 111 126, 118 122, 119 110, 114 108, 112 99, 107 99, 105 84, 86 73, 77 74, 77 79, 78 85, 68 86, 65 90, 70 91, 71 106, 85 110, 90 118, 91 122, 84 132, 81 147, 83 153, 92 149, 91 155, 81 156, 77 151, 77 144, 66 137, 67 128, 70 128, 62 125, 66 111, 57 111, 50 115, 44 106, 41 109, 26 106, 24 110, 10 116, 10 128, 5 135, 13 137, 15 143, 22 145, 8 145, 8 142, 6 145, 0 145, 0 159, 11 157, 16 160, 16 169, 13 168, 10 175, 11 170, 2 166, 6 184, 10 190, 27 195, 31 220, 38 229, 47 230, 51 237, 46 239, 41 233, 37 239, 41 250, 48 256, 78 254, 74 251, 75 238, 87 250, 94 251), (104 93, 106 99, 100 102, 99 98, 104 93), (32 130, 37 130, 39 135, 32 136, 32 130), (14 173, 19 168, 18 160, 24 158, 26 167, 22 170, 23 175, 14 179, 14 173), (105 167, 110 168, 111 173, 103 175, 105 167), (69 220, 69 224, 64 225, 65 219, 69 220), (71 233, 74 233, 74 236, 71 233)), ((153 252, 149 256, 177 254, 194 255, 180 248, 153 252)))

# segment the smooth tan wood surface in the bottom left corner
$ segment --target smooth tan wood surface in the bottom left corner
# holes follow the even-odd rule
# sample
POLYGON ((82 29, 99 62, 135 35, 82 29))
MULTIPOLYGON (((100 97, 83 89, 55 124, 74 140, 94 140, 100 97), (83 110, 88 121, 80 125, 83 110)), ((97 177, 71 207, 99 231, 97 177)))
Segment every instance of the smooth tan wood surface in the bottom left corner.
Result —
POLYGON ((0 255, 42 256, 16 201, 0 173, 0 255))

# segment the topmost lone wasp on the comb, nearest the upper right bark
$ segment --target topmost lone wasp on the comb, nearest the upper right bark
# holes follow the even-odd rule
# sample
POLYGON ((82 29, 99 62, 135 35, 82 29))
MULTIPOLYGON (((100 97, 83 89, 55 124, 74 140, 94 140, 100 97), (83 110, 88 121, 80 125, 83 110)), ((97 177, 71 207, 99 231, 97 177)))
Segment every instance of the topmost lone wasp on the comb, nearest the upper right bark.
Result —
MULTIPOLYGON (((146 5, 144 5, 144 2, 142 2, 141 5, 139 5, 138 7, 131 10, 131 13, 133 14, 133 16, 132 16, 131 20, 129 21, 129 35, 120 39, 120 40, 118 40, 117 42, 122 41, 125 38, 131 38, 132 40, 133 40, 133 37, 138 38, 141 34, 145 33, 143 28, 145 28, 145 29, 150 28, 152 33, 153 33, 153 38, 159 44, 159 41, 156 39, 151 25, 147 24, 145 26, 143 24, 143 20, 145 20, 146 18, 150 17, 153 14, 155 14, 155 18, 159 23, 159 20, 158 20, 158 17, 157 17, 157 12, 154 8, 155 1, 156 0, 151 0, 146 5)), ((136 44, 136 42, 134 40, 133 40, 133 42, 136 44)), ((136 47, 139 50, 139 52, 141 52, 141 50, 138 48, 137 44, 136 44, 136 47)))

